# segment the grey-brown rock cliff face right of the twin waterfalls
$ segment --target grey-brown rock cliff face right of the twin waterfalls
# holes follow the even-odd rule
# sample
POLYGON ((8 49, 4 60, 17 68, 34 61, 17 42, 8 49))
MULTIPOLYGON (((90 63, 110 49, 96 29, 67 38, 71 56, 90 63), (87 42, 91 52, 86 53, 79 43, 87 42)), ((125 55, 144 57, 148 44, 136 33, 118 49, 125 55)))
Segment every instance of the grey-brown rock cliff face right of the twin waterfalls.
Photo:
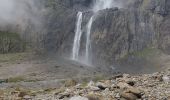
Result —
POLYGON ((136 0, 129 8, 100 11, 92 28, 93 47, 100 48, 95 56, 114 61, 145 48, 168 51, 169 9, 168 0, 136 0))

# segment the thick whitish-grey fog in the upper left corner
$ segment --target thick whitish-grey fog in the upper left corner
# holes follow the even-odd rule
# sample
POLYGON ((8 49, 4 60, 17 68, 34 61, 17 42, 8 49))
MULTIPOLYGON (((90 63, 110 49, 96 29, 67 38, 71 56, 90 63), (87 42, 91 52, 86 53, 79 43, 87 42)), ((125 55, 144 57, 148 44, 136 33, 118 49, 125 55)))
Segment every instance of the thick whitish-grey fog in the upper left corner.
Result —
MULTIPOLYGON (((24 30, 28 24, 37 29, 42 26, 43 6, 39 0, 0 0, 0 27, 19 26, 24 30)), ((3 28, 2 28, 3 27, 3 28)), ((36 29, 35 28, 35 29, 36 29)))

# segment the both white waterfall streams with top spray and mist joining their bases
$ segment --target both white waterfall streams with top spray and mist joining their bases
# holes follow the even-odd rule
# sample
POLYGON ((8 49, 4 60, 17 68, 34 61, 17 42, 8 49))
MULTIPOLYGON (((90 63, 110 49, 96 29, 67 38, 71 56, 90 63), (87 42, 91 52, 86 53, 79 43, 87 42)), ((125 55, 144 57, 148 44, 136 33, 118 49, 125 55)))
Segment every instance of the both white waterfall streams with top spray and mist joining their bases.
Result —
MULTIPOLYGON (((117 1, 117 0, 116 0, 117 1)), ((92 63, 92 50, 91 50, 91 28, 93 25, 93 21, 95 20, 95 17, 97 16, 98 11, 103 9, 109 9, 113 7, 121 8, 120 2, 116 2, 115 0, 96 0, 94 1, 93 7, 91 11, 93 12, 93 15, 89 19, 87 25, 86 25, 86 46, 85 46, 85 52, 83 56, 80 56, 80 48, 81 48, 81 41, 82 41, 82 17, 83 12, 79 11, 77 13, 77 22, 76 22, 76 28, 75 28, 75 36, 74 36, 74 43, 73 43, 73 49, 72 49, 72 60, 84 63, 86 65, 93 65, 92 63)))

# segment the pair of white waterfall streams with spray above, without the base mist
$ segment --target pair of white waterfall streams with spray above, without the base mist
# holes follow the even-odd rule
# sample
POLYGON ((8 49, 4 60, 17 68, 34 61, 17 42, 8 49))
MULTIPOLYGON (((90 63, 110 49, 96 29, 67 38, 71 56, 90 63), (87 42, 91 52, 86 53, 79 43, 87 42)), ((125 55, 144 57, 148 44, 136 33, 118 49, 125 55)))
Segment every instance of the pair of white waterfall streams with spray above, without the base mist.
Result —
MULTIPOLYGON (((89 57, 89 52, 91 48, 91 40, 90 40, 90 35, 91 35, 91 28, 93 21, 95 20, 95 16, 99 10, 107 9, 107 8, 112 8, 113 7, 114 0, 96 0, 94 2, 93 6, 93 15, 90 18, 89 22, 87 23, 86 26, 86 50, 85 50, 85 63, 86 64, 91 64, 90 62, 90 57, 89 57)), ((80 43, 81 43, 81 36, 82 36, 82 17, 83 13, 78 12, 77 14, 77 23, 76 23, 76 31, 75 31, 75 37, 74 37, 74 44, 73 44, 73 50, 72 50, 72 59, 73 60, 79 60, 79 51, 80 51, 80 43)))

